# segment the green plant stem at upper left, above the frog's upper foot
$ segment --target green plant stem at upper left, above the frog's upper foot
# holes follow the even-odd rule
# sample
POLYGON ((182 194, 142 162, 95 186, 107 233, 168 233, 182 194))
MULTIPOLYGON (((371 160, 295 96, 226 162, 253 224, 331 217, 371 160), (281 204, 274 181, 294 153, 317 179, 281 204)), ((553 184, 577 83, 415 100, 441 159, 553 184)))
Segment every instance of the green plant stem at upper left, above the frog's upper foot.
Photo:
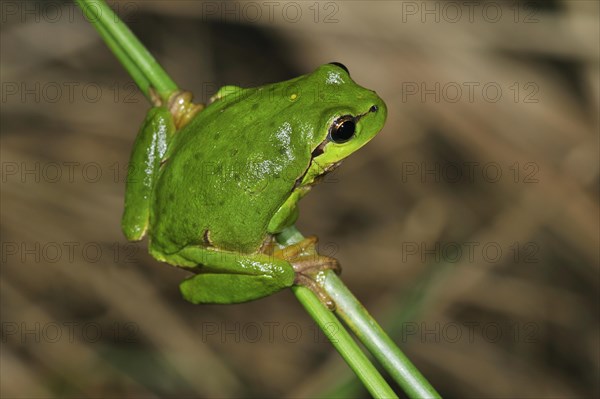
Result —
POLYGON ((178 87, 127 25, 104 1, 76 1, 146 98, 152 100, 150 87, 153 87, 166 103, 178 87))

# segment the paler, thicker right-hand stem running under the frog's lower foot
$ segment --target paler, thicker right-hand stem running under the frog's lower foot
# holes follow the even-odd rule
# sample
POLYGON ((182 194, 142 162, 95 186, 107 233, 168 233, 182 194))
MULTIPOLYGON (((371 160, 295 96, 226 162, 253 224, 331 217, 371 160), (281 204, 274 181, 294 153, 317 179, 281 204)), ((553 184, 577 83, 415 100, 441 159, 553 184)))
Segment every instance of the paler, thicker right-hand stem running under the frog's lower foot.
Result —
MULTIPOLYGON (((284 245, 303 239, 295 227, 284 230, 278 240, 284 245)), ((441 396, 396 346, 348 287, 331 270, 325 272, 322 287, 336 305, 336 314, 390 373, 410 398, 440 398, 441 396)), ((300 298, 299 298, 300 299, 300 298)))

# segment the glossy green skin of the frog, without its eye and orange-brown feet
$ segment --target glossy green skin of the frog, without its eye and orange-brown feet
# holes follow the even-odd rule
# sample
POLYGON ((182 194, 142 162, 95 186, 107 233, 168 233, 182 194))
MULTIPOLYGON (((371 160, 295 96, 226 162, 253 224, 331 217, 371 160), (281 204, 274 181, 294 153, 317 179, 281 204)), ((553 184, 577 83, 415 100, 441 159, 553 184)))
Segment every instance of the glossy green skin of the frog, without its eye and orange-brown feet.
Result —
POLYGON ((152 108, 134 144, 122 227, 149 236, 158 260, 193 268, 181 284, 192 303, 237 303, 294 283, 283 259, 263 244, 298 216, 315 179, 381 130, 384 102, 337 65, 258 88, 225 86, 180 131, 152 108), (373 106, 376 112, 369 112, 373 106), (345 143, 328 141, 332 123, 363 115, 345 143))

